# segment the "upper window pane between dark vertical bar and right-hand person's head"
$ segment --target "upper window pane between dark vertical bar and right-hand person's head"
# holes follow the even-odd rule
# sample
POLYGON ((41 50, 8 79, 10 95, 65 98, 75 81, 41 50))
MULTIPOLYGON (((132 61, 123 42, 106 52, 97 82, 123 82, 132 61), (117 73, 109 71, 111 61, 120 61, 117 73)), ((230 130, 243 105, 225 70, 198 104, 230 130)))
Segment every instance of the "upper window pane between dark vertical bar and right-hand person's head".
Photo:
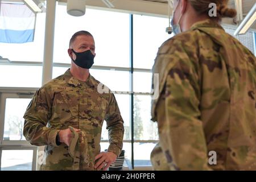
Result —
POLYGON ((167 18, 134 15, 134 68, 151 69, 161 44, 171 38, 167 18))

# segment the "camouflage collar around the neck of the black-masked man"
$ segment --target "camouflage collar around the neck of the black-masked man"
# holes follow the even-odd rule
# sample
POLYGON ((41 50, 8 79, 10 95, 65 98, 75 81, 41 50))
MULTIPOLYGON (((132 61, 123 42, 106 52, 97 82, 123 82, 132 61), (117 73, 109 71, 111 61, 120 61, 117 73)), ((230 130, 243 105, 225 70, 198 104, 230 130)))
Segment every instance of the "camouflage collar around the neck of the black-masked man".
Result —
POLYGON ((93 82, 92 82, 92 76, 90 74, 86 81, 81 81, 72 76, 72 74, 70 72, 70 68, 64 73, 64 80, 68 84, 71 84, 74 86, 84 86, 86 88, 90 88, 90 87, 94 86, 93 82))

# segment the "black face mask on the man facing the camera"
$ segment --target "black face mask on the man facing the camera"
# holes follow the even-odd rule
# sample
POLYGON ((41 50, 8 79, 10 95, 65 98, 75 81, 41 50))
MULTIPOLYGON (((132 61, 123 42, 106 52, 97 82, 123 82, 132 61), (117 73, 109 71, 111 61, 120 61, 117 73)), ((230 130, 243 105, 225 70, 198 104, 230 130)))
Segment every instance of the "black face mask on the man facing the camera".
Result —
POLYGON ((94 63, 94 55, 92 54, 92 52, 90 52, 90 50, 84 51, 84 52, 75 52, 72 49, 73 53, 75 53, 76 55, 76 60, 72 61, 78 65, 81 68, 86 68, 86 69, 90 69, 94 63))

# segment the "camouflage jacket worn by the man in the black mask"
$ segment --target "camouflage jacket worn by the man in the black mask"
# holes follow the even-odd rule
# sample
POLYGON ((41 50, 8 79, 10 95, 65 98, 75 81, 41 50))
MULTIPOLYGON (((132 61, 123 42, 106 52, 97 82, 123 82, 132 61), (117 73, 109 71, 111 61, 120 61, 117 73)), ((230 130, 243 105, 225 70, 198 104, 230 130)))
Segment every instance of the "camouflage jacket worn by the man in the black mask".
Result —
POLYGON ((24 114, 23 134, 32 145, 46 145, 46 161, 41 170, 94 170, 104 119, 109 132, 108 151, 117 156, 121 153, 123 119, 114 94, 97 92, 98 84, 91 75, 85 82, 79 81, 68 69, 36 91, 24 114), (69 155, 66 144, 56 144, 57 132, 69 126, 81 130, 76 159, 69 155))

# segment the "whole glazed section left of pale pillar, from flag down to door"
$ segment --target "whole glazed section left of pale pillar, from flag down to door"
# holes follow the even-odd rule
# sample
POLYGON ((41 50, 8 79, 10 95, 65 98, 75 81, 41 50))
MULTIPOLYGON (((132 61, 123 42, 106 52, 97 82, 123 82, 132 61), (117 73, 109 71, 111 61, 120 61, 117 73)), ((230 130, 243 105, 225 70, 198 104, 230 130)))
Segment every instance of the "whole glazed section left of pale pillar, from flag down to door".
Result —
POLYGON ((28 88, 42 84, 45 20, 46 13, 36 15, 34 42, 0 43, 1 171, 36 169, 38 151, 23 137, 23 115, 35 92, 28 88))

